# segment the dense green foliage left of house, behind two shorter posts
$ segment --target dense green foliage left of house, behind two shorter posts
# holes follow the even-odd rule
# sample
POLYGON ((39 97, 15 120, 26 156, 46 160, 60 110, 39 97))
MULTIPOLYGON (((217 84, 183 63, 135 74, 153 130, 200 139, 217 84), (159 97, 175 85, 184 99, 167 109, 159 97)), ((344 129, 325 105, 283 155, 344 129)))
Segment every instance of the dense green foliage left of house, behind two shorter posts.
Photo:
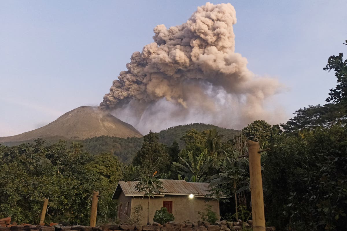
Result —
MULTIPOLYGON (((98 219, 113 216, 110 195, 120 178, 120 164, 110 154, 91 156, 76 143, 0 145, 0 216, 38 224, 43 199, 49 198, 46 221, 87 224, 91 192, 98 190, 98 219)), ((114 205, 113 205, 114 206, 114 205)))

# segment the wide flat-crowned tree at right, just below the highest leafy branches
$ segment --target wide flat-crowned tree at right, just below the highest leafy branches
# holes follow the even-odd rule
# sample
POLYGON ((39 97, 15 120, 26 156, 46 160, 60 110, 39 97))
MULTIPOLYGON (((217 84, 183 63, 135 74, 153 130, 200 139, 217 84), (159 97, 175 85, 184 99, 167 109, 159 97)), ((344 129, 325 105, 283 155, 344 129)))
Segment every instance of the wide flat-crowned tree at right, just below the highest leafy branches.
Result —
POLYGON ((293 113, 294 118, 286 124, 281 124, 286 132, 315 129, 316 127, 328 128, 335 124, 346 124, 345 109, 340 104, 309 105, 293 113))

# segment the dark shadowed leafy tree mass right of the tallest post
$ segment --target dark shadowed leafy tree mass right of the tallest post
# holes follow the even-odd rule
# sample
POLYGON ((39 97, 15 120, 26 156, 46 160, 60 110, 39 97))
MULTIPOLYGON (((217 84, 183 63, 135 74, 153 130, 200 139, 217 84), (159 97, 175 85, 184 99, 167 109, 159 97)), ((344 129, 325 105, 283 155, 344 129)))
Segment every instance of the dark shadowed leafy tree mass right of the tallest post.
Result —
POLYGON ((267 220, 293 230, 345 230, 347 130, 343 126, 282 134, 264 166, 267 220))

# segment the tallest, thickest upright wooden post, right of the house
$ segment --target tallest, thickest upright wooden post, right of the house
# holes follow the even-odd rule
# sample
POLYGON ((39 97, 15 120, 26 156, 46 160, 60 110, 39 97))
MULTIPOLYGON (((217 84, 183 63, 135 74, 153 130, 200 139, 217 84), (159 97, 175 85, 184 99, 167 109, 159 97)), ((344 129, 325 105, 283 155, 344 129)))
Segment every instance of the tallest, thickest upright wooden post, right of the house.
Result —
POLYGON ((249 175, 251 177, 251 200, 253 231, 265 231, 263 184, 261 178, 259 143, 248 140, 249 175))

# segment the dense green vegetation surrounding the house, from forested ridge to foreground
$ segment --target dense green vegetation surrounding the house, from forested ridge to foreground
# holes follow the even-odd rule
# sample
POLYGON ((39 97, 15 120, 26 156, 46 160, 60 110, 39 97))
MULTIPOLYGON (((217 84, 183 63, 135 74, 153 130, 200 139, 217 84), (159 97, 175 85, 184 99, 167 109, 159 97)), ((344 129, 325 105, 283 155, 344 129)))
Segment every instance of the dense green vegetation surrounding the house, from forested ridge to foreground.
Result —
MULTIPOLYGON (((245 220, 251 216, 249 167, 247 158, 239 156, 248 151, 247 139, 254 139, 260 149, 269 148, 261 154, 267 226, 347 230, 347 60, 342 57, 329 57, 324 68, 335 72, 338 83, 327 104, 300 108, 285 124, 257 120, 236 133, 184 125, 169 135, 175 128, 163 131, 172 137, 165 139, 150 132, 139 140, 97 137, 0 145, 0 216, 38 223, 43 198, 50 197, 48 222, 87 224, 91 192, 99 190, 99 224, 117 222, 117 201, 111 195, 118 180, 155 183, 161 178, 209 182, 210 195, 221 202, 221 218, 245 220), (130 141, 134 157, 122 163, 113 149, 130 141), (105 148, 112 142, 112 149, 105 148), (98 153, 91 154, 88 144, 98 153)), ((132 217, 128 222, 134 222, 132 217)))

